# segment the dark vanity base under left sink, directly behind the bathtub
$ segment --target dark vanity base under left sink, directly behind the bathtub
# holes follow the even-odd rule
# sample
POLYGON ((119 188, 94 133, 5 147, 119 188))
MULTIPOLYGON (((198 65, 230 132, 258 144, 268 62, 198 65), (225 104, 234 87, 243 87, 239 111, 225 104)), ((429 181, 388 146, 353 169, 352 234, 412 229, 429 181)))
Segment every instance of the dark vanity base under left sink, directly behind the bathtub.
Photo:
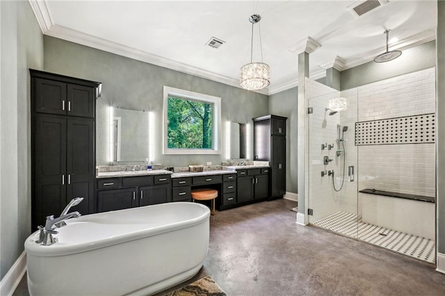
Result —
POLYGON ((170 174, 97 179, 97 211, 172 202, 170 174))

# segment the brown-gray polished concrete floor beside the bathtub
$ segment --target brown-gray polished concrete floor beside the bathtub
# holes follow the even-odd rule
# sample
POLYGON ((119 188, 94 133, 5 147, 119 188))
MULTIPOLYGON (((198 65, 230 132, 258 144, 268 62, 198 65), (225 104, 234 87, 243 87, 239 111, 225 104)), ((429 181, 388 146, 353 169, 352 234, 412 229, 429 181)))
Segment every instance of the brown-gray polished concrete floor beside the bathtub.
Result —
MULTIPOLYGON (((210 275, 236 296, 445 295, 445 274, 434 265, 297 225, 293 206, 278 199, 216 212, 204 267, 164 293, 210 275)), ((14 295, 29 295, 26 277, 14 295)))

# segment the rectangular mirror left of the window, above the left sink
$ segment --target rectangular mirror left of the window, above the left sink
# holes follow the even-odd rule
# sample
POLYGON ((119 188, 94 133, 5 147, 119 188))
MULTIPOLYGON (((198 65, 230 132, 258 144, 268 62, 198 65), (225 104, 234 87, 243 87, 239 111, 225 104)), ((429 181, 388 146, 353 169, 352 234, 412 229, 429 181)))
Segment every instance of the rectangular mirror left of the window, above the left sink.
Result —
POLYGON ((145 161, 149 157, 148 112, 110 108, 113 161, 145 161))

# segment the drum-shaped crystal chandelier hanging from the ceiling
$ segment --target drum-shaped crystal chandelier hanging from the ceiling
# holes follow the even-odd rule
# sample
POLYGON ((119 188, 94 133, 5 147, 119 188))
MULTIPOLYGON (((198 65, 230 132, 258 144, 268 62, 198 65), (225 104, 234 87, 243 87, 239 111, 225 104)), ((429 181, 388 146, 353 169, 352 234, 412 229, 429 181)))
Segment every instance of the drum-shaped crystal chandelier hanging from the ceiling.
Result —
POLYGON ((251 15, 249 22, 252 23, 252 39, 250 41, 250 63, 241 67, 239 75, 239 83, 241 88, 246 90, 261 90, 267 88, 270 83, 270 67, 269 65, 262 63, 263 61, 263 48, 261 46, 261 28, 259 27, 259 47, 261 50, 261 63, 252 63, 253 53, 253 25, 257 24, 261 20, 260 15, 251 15))

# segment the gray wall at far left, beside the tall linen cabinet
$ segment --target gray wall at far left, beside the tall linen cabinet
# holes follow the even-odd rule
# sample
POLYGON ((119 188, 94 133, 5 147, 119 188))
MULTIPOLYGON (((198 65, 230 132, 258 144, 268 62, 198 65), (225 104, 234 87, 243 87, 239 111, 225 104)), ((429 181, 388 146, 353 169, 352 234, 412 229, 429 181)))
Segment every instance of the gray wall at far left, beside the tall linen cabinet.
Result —
POLYGON ((43 69, 43 37, 28 1, 0 1, 0 279, 31 233, 29 68, 43 69))

